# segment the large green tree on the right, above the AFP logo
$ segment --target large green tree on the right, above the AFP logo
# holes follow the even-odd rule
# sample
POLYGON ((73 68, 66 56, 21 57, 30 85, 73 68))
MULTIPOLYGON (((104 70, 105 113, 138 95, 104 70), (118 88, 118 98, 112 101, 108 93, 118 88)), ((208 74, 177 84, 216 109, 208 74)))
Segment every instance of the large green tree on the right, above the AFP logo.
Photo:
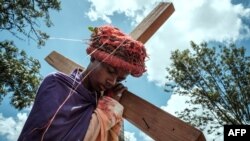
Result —
MULTIPOLYGON (((201 105, 187 107, 178 116, 208 133, 216 133, 223 124, 250 123, 250 58, 244 47, 235 44, 208 47, 191 42, 192 50, 172 52, 166 90, 191 97, 187 103, 201 105)), ((220 134, 220 133, 218 133, 220 134)))

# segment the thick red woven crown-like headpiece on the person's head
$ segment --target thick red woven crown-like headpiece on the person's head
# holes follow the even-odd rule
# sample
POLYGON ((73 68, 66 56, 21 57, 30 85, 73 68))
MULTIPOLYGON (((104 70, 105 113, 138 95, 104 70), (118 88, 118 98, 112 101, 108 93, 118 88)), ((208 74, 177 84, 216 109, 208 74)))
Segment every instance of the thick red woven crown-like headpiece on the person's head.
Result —
POLYGON ((113 67, 139 77, 145 71, 147 57, 144 45, 122 33, 118 28, 104 25, 92 29, 87 53, 113 67))

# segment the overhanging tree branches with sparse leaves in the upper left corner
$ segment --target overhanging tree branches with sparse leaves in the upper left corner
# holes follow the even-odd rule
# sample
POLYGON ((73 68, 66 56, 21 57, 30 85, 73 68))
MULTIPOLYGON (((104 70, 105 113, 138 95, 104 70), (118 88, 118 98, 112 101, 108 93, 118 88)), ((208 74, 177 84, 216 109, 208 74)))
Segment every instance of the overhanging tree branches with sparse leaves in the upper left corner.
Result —
POLYGON ((52 25, 49 10, 60 10, 58 0, 0 0, 0 31, 6 30, 14 36, 21 33, 33 39, 39 46, 45 45, 49 36, 39 30, 39 24, 52 25))

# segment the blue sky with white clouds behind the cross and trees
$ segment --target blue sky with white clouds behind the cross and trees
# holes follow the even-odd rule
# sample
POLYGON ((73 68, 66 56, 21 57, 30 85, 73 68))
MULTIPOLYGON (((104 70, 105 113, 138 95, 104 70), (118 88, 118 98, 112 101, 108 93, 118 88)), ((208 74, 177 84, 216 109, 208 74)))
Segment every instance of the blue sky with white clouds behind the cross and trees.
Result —
MULTIPOLYGON (((62 1, 59 12, 52 11, 54 26, 41 29, 50 35, 46 46, 37 48, 33 41, 18 40, 8 32, 0 33, 0 40, 11 39, 29 56, 39 59, 41 74, 56 71, 44 58, 53 50, 87 66, 85 53, 88 26, 111 23, 126 33, 133 28, 162 0, 74 0, 62 1)), ((189 48, 190 40, 225 42, 235 41, 248 47, 250 44, 250 4, 247 1, 230 0, 173 0, 176 11, 170 19, 146 43, 150 59, 148 72, 141 78, 129 77, 124 83, 129 90, 154 105, 174 114, 185 108, 187 97, 164 92, 165 68, 170 64, 170 53, 175 49, 189 48)), ((26 38, 25 38, 26 39, 26 38)), ((247 49, 250 54, 250 49, 247 49)), ((16 140, 30 109, 17 111, 9 105, 6 97, 0 105, 0 140, 16 140)), ((143 133, 125 122, 125 134, 130 141, 148 141, 143 133)), ((207 136, 209 139, 210 136, 207 136)), ((217 140, 222 140, 220 137, 217 140)))

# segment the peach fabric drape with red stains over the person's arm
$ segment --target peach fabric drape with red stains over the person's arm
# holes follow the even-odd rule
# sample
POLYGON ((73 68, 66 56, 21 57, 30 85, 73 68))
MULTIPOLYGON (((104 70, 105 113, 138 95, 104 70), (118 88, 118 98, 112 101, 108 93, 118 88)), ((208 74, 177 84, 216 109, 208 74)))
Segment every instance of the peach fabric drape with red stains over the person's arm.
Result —
POLYGON ((85 135, 84 141, 118 141, 122 126, 123 106, 111 97, 103 96, 85 135))

